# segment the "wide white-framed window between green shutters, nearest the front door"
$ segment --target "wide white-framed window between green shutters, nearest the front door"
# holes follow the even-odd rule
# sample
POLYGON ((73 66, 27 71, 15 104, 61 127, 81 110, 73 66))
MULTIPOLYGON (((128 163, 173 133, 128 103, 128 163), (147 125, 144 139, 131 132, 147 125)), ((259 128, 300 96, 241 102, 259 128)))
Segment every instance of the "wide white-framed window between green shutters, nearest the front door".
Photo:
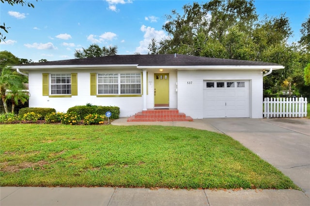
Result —
POLYGON ((98 94, 141 94, 141 74, 97 74, 98 94))

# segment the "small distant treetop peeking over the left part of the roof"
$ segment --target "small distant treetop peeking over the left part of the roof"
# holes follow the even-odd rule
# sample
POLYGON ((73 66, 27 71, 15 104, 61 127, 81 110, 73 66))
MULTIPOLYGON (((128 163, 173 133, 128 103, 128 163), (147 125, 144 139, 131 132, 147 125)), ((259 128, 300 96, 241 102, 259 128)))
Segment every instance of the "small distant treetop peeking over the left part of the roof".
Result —
POLYGON ((76 59, 113 56, 117 54, 117 46, 103 46, 100 48, 98 44, 91 44, 88 48, 82 48, 82 50, 76 50, 74 56, 76 59))

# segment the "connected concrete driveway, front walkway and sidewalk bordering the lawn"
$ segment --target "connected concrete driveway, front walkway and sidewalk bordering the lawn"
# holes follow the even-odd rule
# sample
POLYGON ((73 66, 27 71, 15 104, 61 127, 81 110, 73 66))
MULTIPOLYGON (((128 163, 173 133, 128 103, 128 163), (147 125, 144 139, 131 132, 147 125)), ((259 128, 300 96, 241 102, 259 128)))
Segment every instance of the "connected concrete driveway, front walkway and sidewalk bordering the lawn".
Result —
POLYGON ((310 119, 215 118, 113 125, 191 127, 230 135, 290 177, 296 190, 1 187, 1 206, 310 206, 310 119))

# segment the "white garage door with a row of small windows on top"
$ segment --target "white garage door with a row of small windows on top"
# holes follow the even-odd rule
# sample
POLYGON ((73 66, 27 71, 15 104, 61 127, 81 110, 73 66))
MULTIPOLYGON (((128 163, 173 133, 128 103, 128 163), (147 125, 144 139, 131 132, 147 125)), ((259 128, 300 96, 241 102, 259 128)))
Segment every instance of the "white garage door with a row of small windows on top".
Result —
POLYGON ((203 118, 248 117, 248 80, 203 82, 203 118))

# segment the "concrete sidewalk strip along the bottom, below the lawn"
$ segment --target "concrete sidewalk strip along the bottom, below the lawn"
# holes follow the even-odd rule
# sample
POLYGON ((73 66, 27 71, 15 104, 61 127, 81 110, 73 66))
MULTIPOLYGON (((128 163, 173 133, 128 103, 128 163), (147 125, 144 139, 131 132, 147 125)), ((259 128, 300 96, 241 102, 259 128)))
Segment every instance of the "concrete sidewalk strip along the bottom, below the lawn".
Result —
POLYGON ((1 187, 1 206, 309 206, 296 190, 1 187))

